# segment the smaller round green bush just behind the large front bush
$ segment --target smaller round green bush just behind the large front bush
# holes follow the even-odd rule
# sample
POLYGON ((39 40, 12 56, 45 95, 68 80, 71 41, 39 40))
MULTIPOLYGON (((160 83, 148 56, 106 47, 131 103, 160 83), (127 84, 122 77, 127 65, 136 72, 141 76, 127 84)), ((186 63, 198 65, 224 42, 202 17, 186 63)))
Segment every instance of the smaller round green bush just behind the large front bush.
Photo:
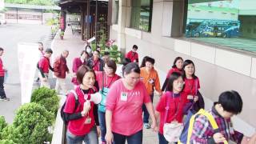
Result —
POLYGON ((31 102, 41 104, 46 110, 56 116, 59 107, 59 98, 55 90, 50 90, 46 87, 38 88, 33 91, 31 102))

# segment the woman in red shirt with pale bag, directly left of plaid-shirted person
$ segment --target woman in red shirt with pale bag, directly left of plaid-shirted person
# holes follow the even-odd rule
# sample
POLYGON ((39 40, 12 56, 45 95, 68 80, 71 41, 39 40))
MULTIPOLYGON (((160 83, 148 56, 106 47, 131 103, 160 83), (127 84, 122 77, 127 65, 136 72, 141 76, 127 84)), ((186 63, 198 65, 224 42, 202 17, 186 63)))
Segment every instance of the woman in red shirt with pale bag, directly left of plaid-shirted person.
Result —
POLYGON ((170 122, 182 122, 183 117, 183 97, 185 94, 182 92, 184 81, 182 74, 174 72, 170 74, 166 86, 166 93, 160 98, 158 105, 156 106, 156 118, 159 118, 160 125, 158 131, 159 144, 168 144, 166 138, 163 136, 163 126, 165 123, 170 122), (169 102, 169 104, 167 103, 169 102), (166 112, 166 109, 169 109, 166 112))

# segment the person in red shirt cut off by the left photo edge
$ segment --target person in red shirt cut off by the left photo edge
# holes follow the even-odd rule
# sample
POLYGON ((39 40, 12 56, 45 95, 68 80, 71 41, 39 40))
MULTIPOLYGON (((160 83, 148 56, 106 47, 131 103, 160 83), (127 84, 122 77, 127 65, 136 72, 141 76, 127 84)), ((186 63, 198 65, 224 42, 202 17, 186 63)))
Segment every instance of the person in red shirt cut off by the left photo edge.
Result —
POLYGON ((3 86, 6 69, 2 65, 2 58, 1 58, 2 54, 3 54, 3 48, 0 47, 0 100, 1 101, 10 101, 9 98, 6 98, 6 92, 5 92, 4 86, 3 86))

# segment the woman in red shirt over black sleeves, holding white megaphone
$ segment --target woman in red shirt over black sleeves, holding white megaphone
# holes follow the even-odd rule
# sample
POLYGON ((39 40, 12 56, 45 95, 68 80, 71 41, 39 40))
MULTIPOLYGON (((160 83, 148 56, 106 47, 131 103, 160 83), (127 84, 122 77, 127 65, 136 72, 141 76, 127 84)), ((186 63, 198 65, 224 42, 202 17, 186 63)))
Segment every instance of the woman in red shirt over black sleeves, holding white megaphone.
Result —
POLYGON ((75 88, 78 94, 78 106, 75 106, 74 94, 68 94, 64 114, 68 121, 66 139, 68 144, 98 143, 100 128, 98 124, 98 106, 88 100, 97 90, 94 87, 95 73, 88 66, 80 66, 77 72, 80 84, 75 88))

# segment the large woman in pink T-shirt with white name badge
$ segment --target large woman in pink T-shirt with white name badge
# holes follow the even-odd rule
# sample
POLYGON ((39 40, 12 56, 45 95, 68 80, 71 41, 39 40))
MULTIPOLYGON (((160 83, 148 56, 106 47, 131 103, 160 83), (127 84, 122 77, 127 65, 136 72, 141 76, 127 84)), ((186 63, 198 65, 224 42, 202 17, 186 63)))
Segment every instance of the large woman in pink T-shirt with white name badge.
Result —
POLYGON ((146 105, 156 130, 154 109, 137 63, 123 69, 124 78, 114 82, 106 99, 106 143, 142 144, 142 104, 146 105))

